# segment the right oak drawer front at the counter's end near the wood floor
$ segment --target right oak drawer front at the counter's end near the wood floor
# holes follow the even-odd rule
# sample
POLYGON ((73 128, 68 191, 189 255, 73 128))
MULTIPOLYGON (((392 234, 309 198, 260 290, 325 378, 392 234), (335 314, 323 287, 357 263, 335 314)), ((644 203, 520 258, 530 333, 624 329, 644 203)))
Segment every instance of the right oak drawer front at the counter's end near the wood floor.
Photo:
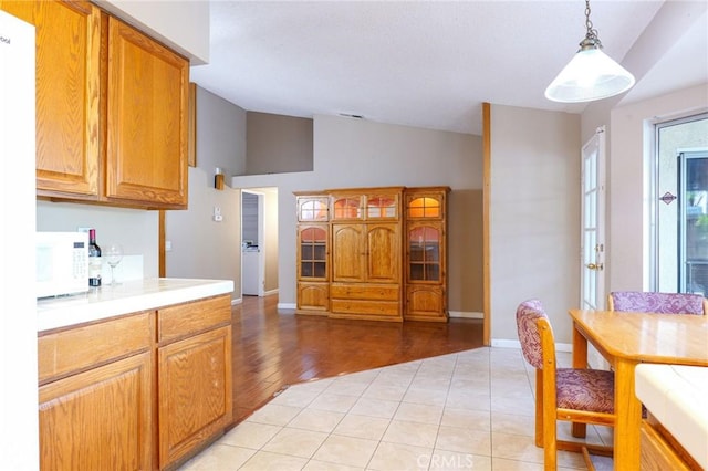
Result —
POLYGON ((157 342, 164 343, 231 322, 231 296, 209 297, 157 311, 157 342))

